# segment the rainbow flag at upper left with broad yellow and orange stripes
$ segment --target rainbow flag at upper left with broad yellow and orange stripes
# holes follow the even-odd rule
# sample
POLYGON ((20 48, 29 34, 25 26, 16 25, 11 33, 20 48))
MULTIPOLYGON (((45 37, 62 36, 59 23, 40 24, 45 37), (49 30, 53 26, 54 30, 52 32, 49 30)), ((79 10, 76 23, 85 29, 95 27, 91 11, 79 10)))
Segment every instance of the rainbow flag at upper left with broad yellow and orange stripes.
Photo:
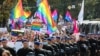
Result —
POLYGON ((11 10, 10 19, 22 19, 25 20, 31 15, 31 12, 23 10, 22 0, 18 0, 16 6, 11 10))

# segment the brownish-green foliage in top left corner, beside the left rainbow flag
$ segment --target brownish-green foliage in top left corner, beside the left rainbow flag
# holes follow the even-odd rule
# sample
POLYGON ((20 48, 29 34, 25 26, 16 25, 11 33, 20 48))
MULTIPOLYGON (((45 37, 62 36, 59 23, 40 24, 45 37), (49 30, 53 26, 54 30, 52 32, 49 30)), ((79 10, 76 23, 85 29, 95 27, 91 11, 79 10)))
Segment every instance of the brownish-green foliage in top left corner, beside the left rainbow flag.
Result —
MULTIPOLYGON (((0 0, 1 1, 1 0, 0 0)), ((2 0, 1 8, 0 8, 0 22, 3 19, 8 19, 10 15, 10 10, 13 7, 13 0, 2 0)))

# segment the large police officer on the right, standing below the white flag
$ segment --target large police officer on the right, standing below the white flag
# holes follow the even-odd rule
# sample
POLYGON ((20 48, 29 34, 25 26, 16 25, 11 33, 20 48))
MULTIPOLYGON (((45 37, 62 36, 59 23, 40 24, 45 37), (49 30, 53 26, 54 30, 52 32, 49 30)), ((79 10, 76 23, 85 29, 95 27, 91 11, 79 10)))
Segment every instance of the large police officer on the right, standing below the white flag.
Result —
POLYGON ((77 44, 79 47, 80 56, 88 56, 89 42, 86 40, 86 35, 80 34, 79 37, 80 37, 80 40, 77 42, 77 44))

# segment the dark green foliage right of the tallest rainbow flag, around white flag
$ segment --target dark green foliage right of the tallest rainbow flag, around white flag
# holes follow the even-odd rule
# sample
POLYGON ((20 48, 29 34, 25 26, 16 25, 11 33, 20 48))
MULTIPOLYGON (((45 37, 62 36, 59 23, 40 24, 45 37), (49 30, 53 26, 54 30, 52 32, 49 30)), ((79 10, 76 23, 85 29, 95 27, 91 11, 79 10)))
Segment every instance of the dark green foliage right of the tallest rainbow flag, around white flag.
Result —
MULTIPOLYGON (((85 11, 84 19, 95 19, 100 18, 100 0, 84 0, 85 1, 85 11)), ((78 13, 81 9, 80 4, 82 0, 49 0, 51 8, 57 8, 59 13, 64 15, 65 11, 68 10, 68 6, 75 5, 75 8, 70 9, 73 18, 77 19, 78 13), (51 2, 50 2, 51 1, 51 2)))

